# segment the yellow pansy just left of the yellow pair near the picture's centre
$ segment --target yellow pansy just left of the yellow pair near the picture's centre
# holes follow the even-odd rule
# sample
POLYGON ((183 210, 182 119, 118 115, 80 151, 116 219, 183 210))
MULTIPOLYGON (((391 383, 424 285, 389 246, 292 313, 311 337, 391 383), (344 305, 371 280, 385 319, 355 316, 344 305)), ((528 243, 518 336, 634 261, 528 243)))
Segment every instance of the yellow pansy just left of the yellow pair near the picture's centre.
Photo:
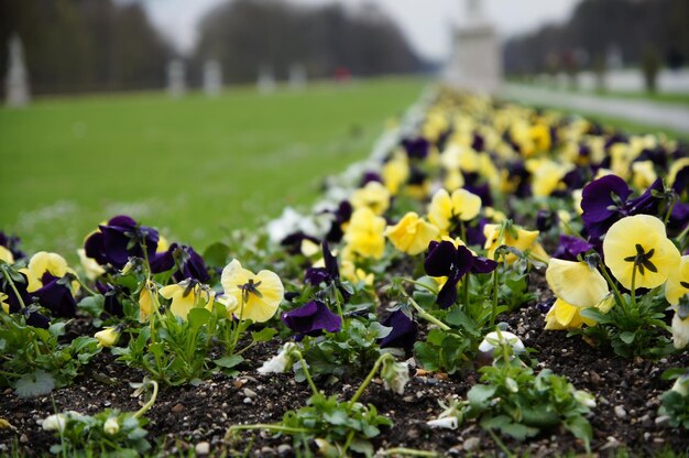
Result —
POLYGON ((385 219, 370 208, 354 210, 344 232, 346 253, 381 259, 385 251, 385 219))

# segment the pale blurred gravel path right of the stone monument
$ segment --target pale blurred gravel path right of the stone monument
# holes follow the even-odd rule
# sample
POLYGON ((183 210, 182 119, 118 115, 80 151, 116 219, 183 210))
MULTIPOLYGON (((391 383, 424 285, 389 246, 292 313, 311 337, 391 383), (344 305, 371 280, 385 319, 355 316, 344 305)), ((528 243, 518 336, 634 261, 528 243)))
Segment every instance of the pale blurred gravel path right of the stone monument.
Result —
POLYGON ((669 103, 565 94, 514 84, 505 85, 502 96, 524 103, 569 108, 689 133, 689 109, 669 103))

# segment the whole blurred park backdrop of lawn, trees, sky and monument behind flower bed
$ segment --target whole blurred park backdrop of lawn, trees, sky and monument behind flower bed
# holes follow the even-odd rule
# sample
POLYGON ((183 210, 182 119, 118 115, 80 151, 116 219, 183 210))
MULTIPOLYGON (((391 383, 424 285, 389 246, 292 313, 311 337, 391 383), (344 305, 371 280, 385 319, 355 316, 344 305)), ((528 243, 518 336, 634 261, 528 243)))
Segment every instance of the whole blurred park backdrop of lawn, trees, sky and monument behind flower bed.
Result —
POLYGON ((689 135, 687 0, 0 0, 0 230, 205 244, 314 201, 429 83, 689 135))

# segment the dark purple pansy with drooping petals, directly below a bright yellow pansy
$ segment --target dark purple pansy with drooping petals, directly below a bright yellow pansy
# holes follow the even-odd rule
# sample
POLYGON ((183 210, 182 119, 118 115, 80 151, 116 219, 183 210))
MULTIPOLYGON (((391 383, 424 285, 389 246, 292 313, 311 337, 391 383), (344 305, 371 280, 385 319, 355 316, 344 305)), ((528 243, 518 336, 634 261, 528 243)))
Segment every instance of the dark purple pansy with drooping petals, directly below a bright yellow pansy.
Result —
POLYGON ((430 276, 447 276, 447 282, 440 288, 436 303, 440 308, 448 308, 457 301, 457 284, 469 272, 489 273, 495 270, 497 263, 493 260, 474 257, 463 246, 455 248, 455 243, 444 240, 428 243, 428 254, 424 269, 430 276))

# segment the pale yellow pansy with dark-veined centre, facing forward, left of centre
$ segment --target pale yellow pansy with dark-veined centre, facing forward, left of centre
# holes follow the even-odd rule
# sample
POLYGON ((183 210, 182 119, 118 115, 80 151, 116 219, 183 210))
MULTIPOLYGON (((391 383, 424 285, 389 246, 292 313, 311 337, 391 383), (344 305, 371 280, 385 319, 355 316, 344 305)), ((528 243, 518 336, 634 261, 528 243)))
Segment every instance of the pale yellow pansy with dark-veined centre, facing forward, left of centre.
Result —
POLYGON ((275 315, 285 288, 280 277, 271 271, 254 274, 243 269, 238 260, 230 262, 220 276, 228 301, 228 313, 239 319, 265 323, 275 315))

